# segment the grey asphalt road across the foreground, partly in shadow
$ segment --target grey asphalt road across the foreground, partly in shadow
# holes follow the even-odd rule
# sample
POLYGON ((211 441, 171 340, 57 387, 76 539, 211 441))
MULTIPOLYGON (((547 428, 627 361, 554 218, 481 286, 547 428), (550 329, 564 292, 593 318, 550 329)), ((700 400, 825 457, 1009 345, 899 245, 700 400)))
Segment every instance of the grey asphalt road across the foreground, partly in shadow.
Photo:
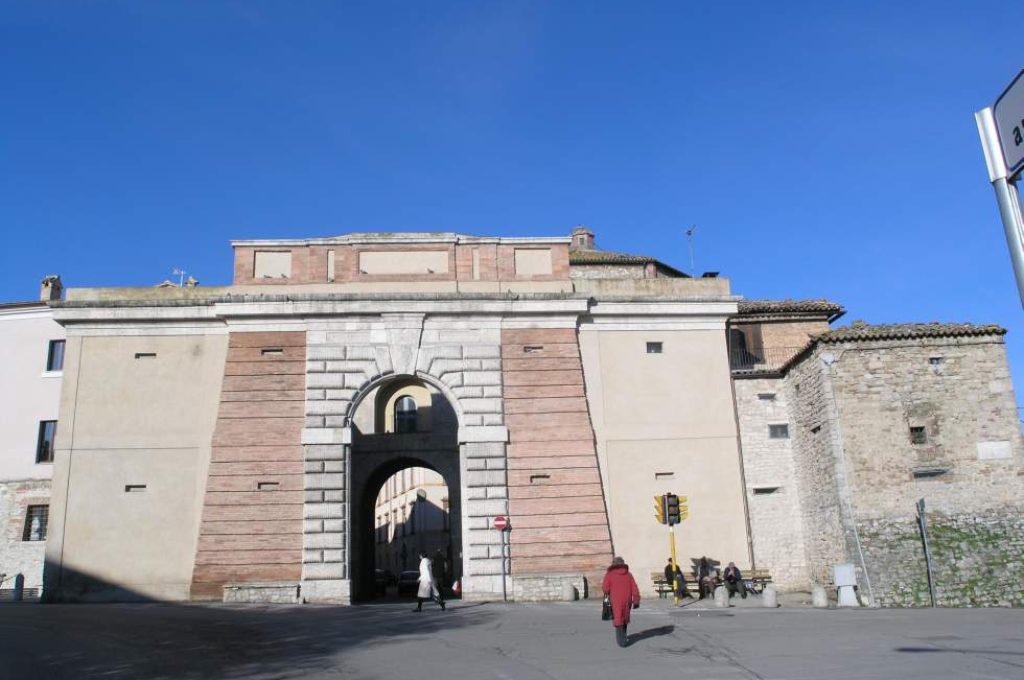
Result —
POLYGON ((0 678, 1024 679, 1024 610, 0 605, 0 678))

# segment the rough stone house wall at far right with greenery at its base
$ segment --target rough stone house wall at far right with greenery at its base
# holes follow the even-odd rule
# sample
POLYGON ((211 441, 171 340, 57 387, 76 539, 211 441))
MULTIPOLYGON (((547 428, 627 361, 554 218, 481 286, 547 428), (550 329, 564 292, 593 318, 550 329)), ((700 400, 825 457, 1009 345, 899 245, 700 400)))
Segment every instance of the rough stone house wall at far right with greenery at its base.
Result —
POLYGON ((1019 603, 1024 447, 1001 338, 857 342, 816 353, 833 359, 876 599, 921 603, 914 504, 924 498, 943 602, 1019 603), (913 443, 910 427, 924 427, 927 441, 913 443))

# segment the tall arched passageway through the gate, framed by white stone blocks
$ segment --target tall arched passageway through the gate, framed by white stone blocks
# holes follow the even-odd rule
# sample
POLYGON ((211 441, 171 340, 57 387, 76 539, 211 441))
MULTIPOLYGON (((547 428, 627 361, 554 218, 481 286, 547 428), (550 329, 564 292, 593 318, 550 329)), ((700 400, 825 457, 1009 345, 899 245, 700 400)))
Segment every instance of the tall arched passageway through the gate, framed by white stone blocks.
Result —
MULTIPOLYGON (((380 541, 379 517, 382 508, 378 500, 382 486, 402 471, 425 469, 441 480, 443 497, 431 500, 426 488, 404 480, 392 490, 394 502, 389 512, 395 514, 390 523, 400 523, 407 534, 397 543, 406 546, 406 556, 399 559, 402 568, 416 568, 415 551, 420 541, 409 540, 410 515, 417 504, 427 503, 446 511, 444 546, 451 580, 461 579, 462 510, 458 419, 452 405, 433 385, 411 377, 396 377, 376 386, 365 395, 352 418, 351 443, 351 596, 353 601, 367 601, 377 595, 375 568, 378 568, 380 541), (415 403, 411 411, 410 403, 415 403), (417 492, 426 498, 420 500, 417 492), (442 501, 443 498, 443 501, 442 501), (435 504, 434 501, 437 503, 435 504), (404 517, 402 517, 404 513, 404 517), (402 521, 404 519, 404 521, 402 521)), ((420 507, 429 511, 427 505, 420 507)), ((390 527, 388 530, 393 530, 390 527)), ((390 542, 389 542, 390 543, 390 542)), ((425 545, 425 542, 423 542, 425 545)), ((434 550, 436 546, 432 546, 434 550)), ((398 548, 400 550, 400 548, 398 548)), ((432 554, 432 553, 431 553, 432 554)), ((399 553, 400 556, 400 553, 399 553)), ((380 567, 391 568, 391 567, 380 567)), ((397 576, 397 570, 395 576, 397 576)))

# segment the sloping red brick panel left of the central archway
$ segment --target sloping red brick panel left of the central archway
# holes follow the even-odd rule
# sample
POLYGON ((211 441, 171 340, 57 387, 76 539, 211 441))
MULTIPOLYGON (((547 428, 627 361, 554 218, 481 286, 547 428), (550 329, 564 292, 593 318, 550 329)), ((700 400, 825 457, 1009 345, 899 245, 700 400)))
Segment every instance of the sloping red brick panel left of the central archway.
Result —
POLYGON ((200 525, 194 599, 299 579, 305 334, 232 333, 200 525))

